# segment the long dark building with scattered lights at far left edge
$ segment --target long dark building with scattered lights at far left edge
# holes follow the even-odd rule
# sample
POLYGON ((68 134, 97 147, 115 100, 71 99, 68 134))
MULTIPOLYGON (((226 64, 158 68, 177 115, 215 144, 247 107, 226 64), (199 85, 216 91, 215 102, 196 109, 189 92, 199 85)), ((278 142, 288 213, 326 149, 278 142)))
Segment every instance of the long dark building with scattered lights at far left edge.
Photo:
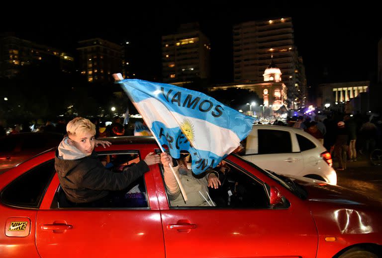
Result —
POLYGON ((49 66, 63 72, 74 71, 74 58, 57 48, 37 44, 15 36, 0 38, 0 77, 14 77, 21 66, 49 66))

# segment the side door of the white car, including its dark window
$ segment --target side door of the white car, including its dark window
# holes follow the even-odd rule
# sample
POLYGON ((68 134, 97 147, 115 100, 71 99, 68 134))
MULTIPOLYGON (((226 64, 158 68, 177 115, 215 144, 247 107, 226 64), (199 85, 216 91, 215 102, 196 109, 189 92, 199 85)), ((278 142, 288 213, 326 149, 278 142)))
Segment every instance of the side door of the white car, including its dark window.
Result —
POLYGON ((243 156, 279 174, 298 175, 304 168, 294 133, 282 128, 254 128, 247 137, 243 156))

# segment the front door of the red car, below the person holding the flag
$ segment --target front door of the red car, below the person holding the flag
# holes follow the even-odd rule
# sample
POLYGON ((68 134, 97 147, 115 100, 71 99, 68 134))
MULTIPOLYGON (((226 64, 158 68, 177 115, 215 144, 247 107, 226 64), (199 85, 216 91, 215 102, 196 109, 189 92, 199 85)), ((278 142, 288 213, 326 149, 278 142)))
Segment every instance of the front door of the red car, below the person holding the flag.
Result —
POLYGON ((227 206, 163 205, 166 258, 315 257, 318 236, 309 209, 286 189, 281 189, 285 205, 271 207, 266 187, 277 184, 266 184, 248 172, 254 170, 250 165, 240 168, 235 162, 244 164, 237 158, 227 161, 229 173, 240 175, 225 180, 235 188, 225 195, 227 206), (244 194, 236 194, 243 190, 239 186, 247 188, 244 194))

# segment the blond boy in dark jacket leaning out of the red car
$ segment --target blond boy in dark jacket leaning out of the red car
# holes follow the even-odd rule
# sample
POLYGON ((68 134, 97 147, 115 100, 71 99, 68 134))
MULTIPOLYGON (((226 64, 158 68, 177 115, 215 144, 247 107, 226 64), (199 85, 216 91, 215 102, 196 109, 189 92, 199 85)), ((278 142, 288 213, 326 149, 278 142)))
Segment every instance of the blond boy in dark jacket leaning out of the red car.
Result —
POLYGON ((113 173, 99 161, 94 147, 111 144, 95 139, 95 125, 85 118, 75 118, 67 125, 68 136, 56 150, 55 169, 67 200, 75 206, 102 206, 109 191, 122 190, 160 162, 159 155, 149 153, 122 173, 113 173))

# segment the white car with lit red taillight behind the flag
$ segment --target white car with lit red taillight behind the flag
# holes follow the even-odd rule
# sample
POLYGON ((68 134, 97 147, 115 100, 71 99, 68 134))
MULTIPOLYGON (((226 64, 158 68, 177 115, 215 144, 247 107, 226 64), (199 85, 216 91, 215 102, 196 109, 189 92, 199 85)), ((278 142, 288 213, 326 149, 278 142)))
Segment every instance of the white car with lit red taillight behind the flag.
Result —
POLYGON ((245 139, 242 156, 277 174, 303 176, 337 185, 330 153, 302 129, 254 125, 245 139))

